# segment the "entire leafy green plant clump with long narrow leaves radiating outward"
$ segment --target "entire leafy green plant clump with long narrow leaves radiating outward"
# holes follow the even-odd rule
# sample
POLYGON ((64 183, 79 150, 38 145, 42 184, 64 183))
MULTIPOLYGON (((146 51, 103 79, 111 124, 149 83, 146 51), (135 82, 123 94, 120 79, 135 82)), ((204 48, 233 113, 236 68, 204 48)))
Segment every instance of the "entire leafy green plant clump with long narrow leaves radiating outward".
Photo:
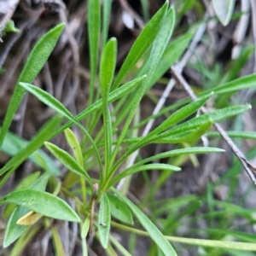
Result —
MULTIPOLYGON (((84 237, 88 234, 91 235, 93 230, 96 230, 96 238, 109 254, 115 255, 113 247, 116 247, 122 254, 131 255, 122 244, 111 236, 112 226, 131 231, 133 234, 150 236, 156 245, 152 246, 152 255, 157 250, 160 250, 164 255, 177 255, 169 241, 208 247, 256 250, 254 245, 248 245, 247 243, 235 244, 210 239, 206 241, 164 236, 166 230, 170 227, 175 229, 172 224, 174 217, 179 218, 178 211, 174 209, 175 214, 170 218, 161 221, 160 224, 157 222, 154 224, 139 207, 119 191, 125 186, 129 186, 131 180, 126 177, 137 172, 155 169, 163 171, 160 182, 153 188, 155 191, 172 172, 181 170, 178 165, 153 163, 154 160, 175 157, 178 162, 178 159, 181 158, 187 159, 190 157, 193 159, 195 154, 223 152, 224 150, 220 148, 196 147, 195 143, 210 129, 212 124, 243 113, 251 106, 249 104, 225 106, 211 113, 203 113, 198 116, 195 116, 195 113, 213 95, 218 96, 227 92, 234 93, 241 90, 241 88, 253 86, 255 75, 233 81, 224 81, 226 83, 217 88, 212 87, 210 90, 204 90, 198 95, 196 101, 187 98, 179 104, 173 104, 171 108, 163 108, 162 112, 155 116, 166 113, 165 121, 145 136, 134 136, 137 129, 144 125, 144 120, 137 121, 136 119, 143 96, 148 93, 148 90, 161 78, 163 73, 180 58, 189 44, 192 33, 188 32, 169 44, 176 16, 175 10, 172 7, 169 8, 166 2, 144 27, 143 32, 132 45, 119 72, 114 76, 117 40, 110 38, 107 41, 110 3, 111 1, 104 1, 103 15, 101 15, 100 1, 90 0, 88 2, 90 42, 88 108, 74 116, 55 97, 31 84, 54 49, 64 24, 55 26, 36 44, 20 74, 0 134, 0 144, 3 146, 3 151, 9 154, 12 151, 12 154, 15 154, 0 170, 1 185, 28 157, 45 173, 40 177, 26 177, 26 184, 22 186, 22 189, 17 188, 0 199, 0 204, 15 204, 18 206, 15 207, 15 210, 13 207, 9 207, 9 209, 7 207, 5 210, 6 216, 9 216, 9 212, 12 213, 6 227, 3 246, 8 247, 19 238, 14 250, 17 250, 17 248, 21 250, 28 242, 28 239, 26 239, 28 230, 33 230, 33 235, 38 231, 33 229, 31 224, 34 224, 38 218, 48 217, 80 224, 84 255, 87 254, 84 237), (104 17, 102 30, 100 27, 101 16, 104 17), (102 52, 99 56, 101 34, 102 52), (98 63, 99 58, 100 63, 98 63), (138 61, 143 61, 143 66, 138 67, 138 61), (99 71, 97 70, 98 66, 99 71), (95 88, 97 89, 96 93, 94 93, 95 88), (38 134, 30 142, 26 142, 8 132, 11 120, 26 91, 36 96, 38 100, 44 102, 57 113, 44 125, 41 131, 38 131, 38 134), (113 111, 110 111, 110 104, 113 104, 113 111), (169 114, 172 109, 176 111, 169 114), (96 124, 100 122, 101 118, 102 128, 94 132, 96 124), (67 122, 62 124, 64 119, 67 119, 67 122), (85 120, 85 125, 81 125, 80 121, 82 119, 85 120), (83 134, 82 138, 77 138, 73 131, 69 129, 72 125, 79 127, 83 134), (118 132, 118 128, 120 132, 118 132), (57 145, 49 143, 50 139, 63 131, 72 155, 57 145), (15 148, 15 151, 9 149, 11 141, 20 145, 15 148), (137 150, 153 143, 172 143, 177 146, 165 153, 156 154, 143 160, 138 159, 136 163, 130 164, 129 158, 132 156, 136 158, 137 150), (62 182, 57 177, 60 175, 58 168, 52 165, 51 162, 49 164, 49 157, 39 149, 43 145, 55 156, 55 159, 67 167, 69 172, 65 177, 62 177, 62 182), (98 170, 98 177, 95 178, 90 175, 92 168, 98 170), (47 189, 48 192, 45 191, 47 183, 51 184, 50 188, 47 189), (119 189, 116 189, 117 186, 119 189), (65 198, 73 200, 74 207, 70 207, 65 198), (99 205, 98 211, 96 211, 96 204, 99 205), (147 232, 130 227, 134 222, 133 216, 137 218, 147 232), (117 219, 122 224, 113 219, 117 219), (161 231, 159 227, 161 227, 161 231), (21 244, 23 245, 21 246, 21 244)), ((155 116, 150 116, 149 120, 154 119, 155 116)), ((199 207, 199 198, 191 197, 187 200, 189 202, 195 200, 195 207, 189 208, 190 212, 195 212, 199 207)), ((169 203, 172 207, 172 202, 168 201, 167 204, 169 205, 169 203)), ((214 203, 218 204, 218 202, 214 203)), ((164 207, 161 202, 160 207, 164 207)), ((161 211, 166 212, 166 209, 162 208, 161 211)), ((162 212, 156 214, 160 215, 162 212)), ((44 226, 49 228, 48 218, 44 218, 44 226)), ((61 255, 63 248, 60 244, 60 235, 55 227, 52 227, 51 230, 56 252, 61 255)))

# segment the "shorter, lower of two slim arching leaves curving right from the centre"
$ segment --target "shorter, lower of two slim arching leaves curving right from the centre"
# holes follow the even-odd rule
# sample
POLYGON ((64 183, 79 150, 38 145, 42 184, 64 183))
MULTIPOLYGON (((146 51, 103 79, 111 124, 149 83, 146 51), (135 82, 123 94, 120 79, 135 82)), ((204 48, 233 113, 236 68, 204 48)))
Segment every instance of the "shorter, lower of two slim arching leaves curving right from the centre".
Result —
POLYGON ((144 172, 144 171, 150 171, 150 170, 178 172, 181 170, 181 168, 177 166, 166 165, 166 164, 148 164, 148 165, 137 166, 137 167, 131 166, 125 169, 125 171, 120 172, 116 177, 113 177, 113 179, 109 183, 109 187, 113 186, 115 183, 118 183, 119 180, 121 180, 123 177, 127 177, 137 172, 144 172))

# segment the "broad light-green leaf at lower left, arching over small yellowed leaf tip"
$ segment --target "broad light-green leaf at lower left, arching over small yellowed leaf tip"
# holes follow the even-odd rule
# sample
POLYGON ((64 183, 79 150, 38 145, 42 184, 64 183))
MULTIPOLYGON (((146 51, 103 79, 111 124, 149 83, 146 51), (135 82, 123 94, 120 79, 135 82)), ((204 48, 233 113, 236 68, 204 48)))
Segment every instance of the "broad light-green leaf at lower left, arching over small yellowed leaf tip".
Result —
POLYGON ((12 192, 0 199, 0 205, 14 203, 38 212, 49 218, 79 222, 80 218, 73 208, 61 198, 34 189, 23 189, 12 192))

